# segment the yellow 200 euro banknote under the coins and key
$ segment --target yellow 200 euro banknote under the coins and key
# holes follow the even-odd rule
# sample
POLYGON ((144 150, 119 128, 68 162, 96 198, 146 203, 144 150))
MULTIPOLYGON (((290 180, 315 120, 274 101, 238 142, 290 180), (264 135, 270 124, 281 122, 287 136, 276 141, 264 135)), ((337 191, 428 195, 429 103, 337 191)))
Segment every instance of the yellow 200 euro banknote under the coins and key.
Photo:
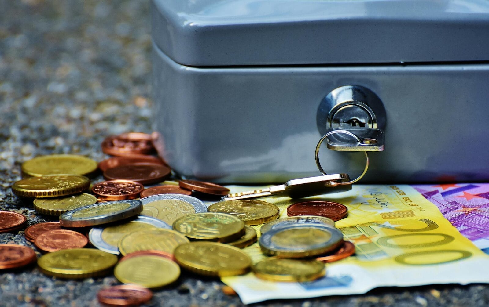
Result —
MULTIPOLYGON (((231 188, 233 192, 240 189, 231 188)), ((416 188, 422 193, 430 189, 416 188)), ((327 264, 326 276, 312 282, 276 283, 258 279, 253 273, 225 277, 222 282, 232 287, 244 304, 362 294, 376 287, 489 283, 488 274, 480 270, 489 266, 489 256, 418 190, 409 185, 357 184, 347 192, 310 197, 308 200, 331 200, 348 207, 348 217, 336 222, 336 227, 345 240, 355 244, 354 256, 327 264)), ((431 197, 438 197, 435 194, 431 197)), ((460 194, 464 195, 463 191, 460 194)), ((278 205, 281 217, 287 216, 288 205, 300 201, 288 197, 261 200, 278 205)), ((260 234, 260 226, 255 228, 260 234)), ((258 243, 244 251, 254 263, 266 257, 258 243)))

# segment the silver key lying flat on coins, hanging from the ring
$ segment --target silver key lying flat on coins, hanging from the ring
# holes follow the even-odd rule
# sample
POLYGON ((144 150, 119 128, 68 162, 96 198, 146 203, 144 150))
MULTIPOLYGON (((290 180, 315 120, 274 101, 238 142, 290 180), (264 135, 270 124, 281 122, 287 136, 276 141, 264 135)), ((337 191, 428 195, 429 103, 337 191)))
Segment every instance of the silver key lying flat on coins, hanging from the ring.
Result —
POLYGON ((285 184, 270 186, 269 188, 228 194, 222 197, 222 201, 237 199, 250 199, 267 196, 289 196, 290 198, 301 198, 319 194, 344 192, 352 189, 351 184, 335 184, 337 182, 348 182, 348 174, 332 174, 324 176, 306 177, 292 179, 285 184))

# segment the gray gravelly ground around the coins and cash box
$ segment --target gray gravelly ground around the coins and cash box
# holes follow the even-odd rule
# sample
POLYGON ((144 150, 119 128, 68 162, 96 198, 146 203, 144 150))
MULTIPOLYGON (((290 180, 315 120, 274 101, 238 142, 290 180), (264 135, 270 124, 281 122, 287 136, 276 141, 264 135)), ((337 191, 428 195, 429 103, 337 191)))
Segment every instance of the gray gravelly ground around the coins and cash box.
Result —
MULTIPOLYGON (((0 0, 0 210, 45 222, 10 186, 38 155, 74 153, 96 161, 103 138, 151 132, 148 0, 0 0)), ((101 178, 96 179, 101 180, 101 178)), ((34 247, 18 233, 0 243, 34 247)), ((35 247, 34 247, 35 248, 35 247)), ((38 253, 40 256, 40 253, 38 253)), ((51 278, 35 266, 0 274, 0 306, 98 306, 113 276, 51 278)), ((241 306, 222 283, 182 276, 149 306, 241 306)), ((488 306, 486 285, 380 288, 360 296, 269 301, 256 306, 488 306)))

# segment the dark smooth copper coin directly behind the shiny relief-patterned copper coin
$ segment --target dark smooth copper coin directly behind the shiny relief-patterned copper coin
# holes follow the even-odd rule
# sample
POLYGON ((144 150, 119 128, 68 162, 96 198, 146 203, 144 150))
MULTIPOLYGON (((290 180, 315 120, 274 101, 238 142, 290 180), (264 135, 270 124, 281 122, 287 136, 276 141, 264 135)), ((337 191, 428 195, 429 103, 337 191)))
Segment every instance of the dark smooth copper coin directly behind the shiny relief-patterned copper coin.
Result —
POLYGON ((156 184, 169 177, 172 170, 164 165, 137 163, 109 168, 104 172, 105 180, 131 180, 140 184, 156 184))

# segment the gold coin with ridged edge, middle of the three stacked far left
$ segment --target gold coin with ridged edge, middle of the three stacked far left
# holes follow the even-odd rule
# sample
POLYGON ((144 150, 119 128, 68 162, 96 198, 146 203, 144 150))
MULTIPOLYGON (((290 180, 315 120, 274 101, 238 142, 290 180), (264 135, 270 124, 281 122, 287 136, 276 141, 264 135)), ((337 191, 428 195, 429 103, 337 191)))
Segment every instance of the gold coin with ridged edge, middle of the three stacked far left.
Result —
POLYGON ((20 197, 61 197, 85 191, 90 180, 80 175, 44 175, 19 180, 12 192, 20 197))

